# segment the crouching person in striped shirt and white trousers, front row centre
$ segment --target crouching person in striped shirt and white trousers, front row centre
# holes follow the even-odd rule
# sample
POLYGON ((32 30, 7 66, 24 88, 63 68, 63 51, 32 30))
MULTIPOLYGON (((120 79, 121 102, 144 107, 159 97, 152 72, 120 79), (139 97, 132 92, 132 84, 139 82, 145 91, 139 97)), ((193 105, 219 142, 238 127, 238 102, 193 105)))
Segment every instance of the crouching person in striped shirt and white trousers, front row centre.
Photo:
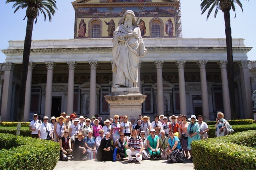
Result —
POLYGON ((137 136, 137 130, 132 130, 132 137, 126 142, 126 154, 129 157, 128 163, 132 163, 132 155, 136 156, 136 161, 141 161, 143 151, 143 141, 141 137, 137 136))

